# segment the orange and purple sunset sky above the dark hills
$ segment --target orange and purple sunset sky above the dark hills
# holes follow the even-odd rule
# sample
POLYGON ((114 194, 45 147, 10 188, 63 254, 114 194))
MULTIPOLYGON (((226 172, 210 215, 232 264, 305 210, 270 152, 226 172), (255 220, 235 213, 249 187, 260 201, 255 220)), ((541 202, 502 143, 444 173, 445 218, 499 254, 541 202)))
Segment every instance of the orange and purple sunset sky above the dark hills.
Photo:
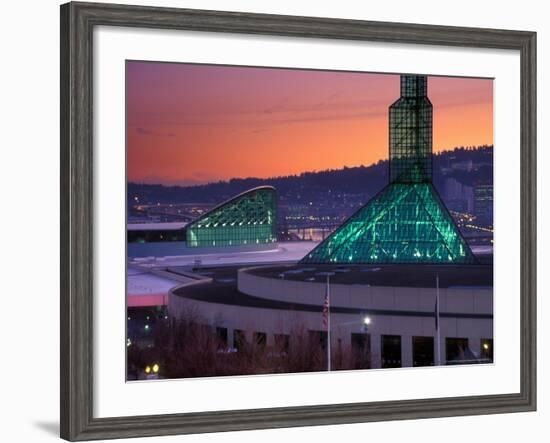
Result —
MULTIPOLYGON (((493 143, 493 81, 429 77, 434 152, 493 143)), ((388 156, 399 75, 127 62, 128 181, 193 185, 388 156)))

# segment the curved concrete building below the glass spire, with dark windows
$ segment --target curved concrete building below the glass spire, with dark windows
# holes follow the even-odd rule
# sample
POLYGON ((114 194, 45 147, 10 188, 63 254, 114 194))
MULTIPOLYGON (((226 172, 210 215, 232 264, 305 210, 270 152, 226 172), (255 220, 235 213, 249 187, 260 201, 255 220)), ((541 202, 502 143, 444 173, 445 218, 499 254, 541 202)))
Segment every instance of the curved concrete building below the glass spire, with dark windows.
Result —
POLYGON ((367 349, 369 362, 363 367, 430 366, 438 356, 441 364, 492 361, 491 265, 409 265, 407 272, 402 265, 210 268, 204 277, 170 291, 169 315, 201 313, 228 347, 238 347, 239 340, 270 346, 281 337, 292 340, 300 330, 326 343, 327 271, 332 275, 331 346, 367 349))

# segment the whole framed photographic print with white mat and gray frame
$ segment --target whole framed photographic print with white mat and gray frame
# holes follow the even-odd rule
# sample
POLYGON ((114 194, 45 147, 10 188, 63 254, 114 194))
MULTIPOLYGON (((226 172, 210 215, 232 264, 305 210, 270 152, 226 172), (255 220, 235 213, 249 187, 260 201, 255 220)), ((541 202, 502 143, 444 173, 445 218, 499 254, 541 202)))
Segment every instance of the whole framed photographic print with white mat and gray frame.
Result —
POLYGON ((531 32, 61 7, 61 436, 531 411, 531 32))

